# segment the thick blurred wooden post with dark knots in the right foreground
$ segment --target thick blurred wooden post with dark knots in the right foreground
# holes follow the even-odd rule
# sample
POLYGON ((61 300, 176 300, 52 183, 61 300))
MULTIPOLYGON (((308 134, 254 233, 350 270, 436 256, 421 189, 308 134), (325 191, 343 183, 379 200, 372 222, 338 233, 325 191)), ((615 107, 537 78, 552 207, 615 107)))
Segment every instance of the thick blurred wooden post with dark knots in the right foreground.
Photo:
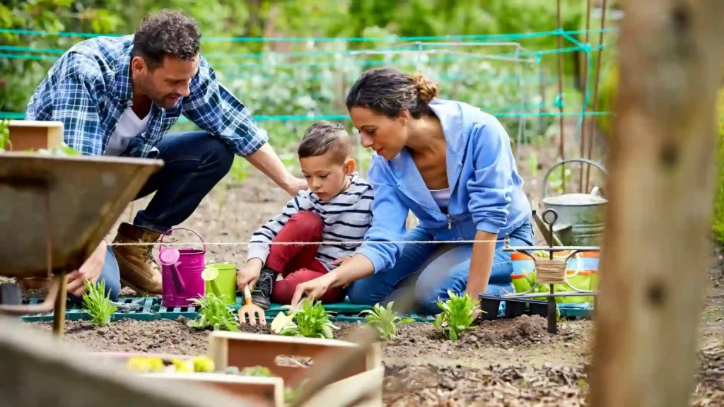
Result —
POLYGON ((710 253, 724 1, 624 1, 594 407, 689 406, 710 253))

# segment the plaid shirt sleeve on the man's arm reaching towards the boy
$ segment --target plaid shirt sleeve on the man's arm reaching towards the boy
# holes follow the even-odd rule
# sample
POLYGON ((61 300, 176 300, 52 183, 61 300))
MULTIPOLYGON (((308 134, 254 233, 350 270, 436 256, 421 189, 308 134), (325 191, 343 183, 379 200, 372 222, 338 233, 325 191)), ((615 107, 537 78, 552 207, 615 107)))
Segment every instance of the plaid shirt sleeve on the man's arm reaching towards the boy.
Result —
POLYGON ((191 81, 190 96, 184 99, 183 113, 202 130, 222 138, 239 156, 255 153, 269 140, 246 106, 216 80, 203 57, 198 75, 191 81))

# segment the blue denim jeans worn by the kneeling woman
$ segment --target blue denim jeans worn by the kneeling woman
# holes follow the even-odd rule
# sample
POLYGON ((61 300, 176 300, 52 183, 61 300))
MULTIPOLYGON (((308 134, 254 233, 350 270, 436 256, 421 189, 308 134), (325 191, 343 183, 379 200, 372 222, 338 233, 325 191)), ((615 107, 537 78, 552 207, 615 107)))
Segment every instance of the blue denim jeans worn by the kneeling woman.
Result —
MULTIPOLYGON (((432 235, 420 227, 408 232, 405 240, 433 240, 432 235)), ((510 246, 533 246, 533 227, 526 221, 510 233, 510 246)), ((503 251, 505 243, 498 242, 495 246, 493 266, 488 280, 486 293, 502 295, 506 291, 513 293, 510 274, 513 264, 510 253, 503 251)), ((438 245, 429 243, 406 243, 403 252, 391 269, 381 270, 353 282, 347 291, 352 303, 374 305, 392 299, 392 293, 402 288, 411 279, 416 279, 415 290, 421 311, 427 314, 439 314, 441 311, 437 301, 445 301, 449 297, 447 290, 463 293, 468 283, 470 259, 473 245, 454 246, 432 261, 429 261, 439 249, 438 245), (429 264, 426 262, 429 261, 429 264)))

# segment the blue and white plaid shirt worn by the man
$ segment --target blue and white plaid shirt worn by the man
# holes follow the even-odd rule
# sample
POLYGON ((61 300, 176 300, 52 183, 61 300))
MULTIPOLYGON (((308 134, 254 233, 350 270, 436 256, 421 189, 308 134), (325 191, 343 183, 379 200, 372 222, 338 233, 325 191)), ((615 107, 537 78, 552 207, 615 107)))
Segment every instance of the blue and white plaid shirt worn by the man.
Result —
MULTIPOLYGON (((25 118, 63 122, 68 146, 85 155, 104 154, 116 122, 132 104, 132 46, 132 35, 77 43, 55 62, 30 97, 25 118)), ((240 156, 253 154, 269 138, 248 109, 216 81, 203 58, 190 95, 172 109, 153 104, 150 114, 146 131, 130 141, 124 155, 155 158, 156 143, 182 114, 240 156)))

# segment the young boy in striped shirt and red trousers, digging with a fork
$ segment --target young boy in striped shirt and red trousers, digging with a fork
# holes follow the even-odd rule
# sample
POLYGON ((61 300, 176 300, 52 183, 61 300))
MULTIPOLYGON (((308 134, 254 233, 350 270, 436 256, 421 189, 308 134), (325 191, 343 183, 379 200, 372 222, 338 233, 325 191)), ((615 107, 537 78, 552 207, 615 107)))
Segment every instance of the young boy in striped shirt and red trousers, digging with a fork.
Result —
MULTIPOLYGON (((292 198, 282 212, 253 233, 245 266, 237 285, 252 291, 252 302, 269 309, 271 302, 289 304, 298 284, 313 280, 352 256, 372 223, 372 186, 354 172, 352 143, 345 127, 316 122, 298 148, 299 164, 309 185, 292 198), (282 280, 277 275, 282 274, 282 280)), ((340 289, 328 290, 323 303, 340 301, 340 289)))

